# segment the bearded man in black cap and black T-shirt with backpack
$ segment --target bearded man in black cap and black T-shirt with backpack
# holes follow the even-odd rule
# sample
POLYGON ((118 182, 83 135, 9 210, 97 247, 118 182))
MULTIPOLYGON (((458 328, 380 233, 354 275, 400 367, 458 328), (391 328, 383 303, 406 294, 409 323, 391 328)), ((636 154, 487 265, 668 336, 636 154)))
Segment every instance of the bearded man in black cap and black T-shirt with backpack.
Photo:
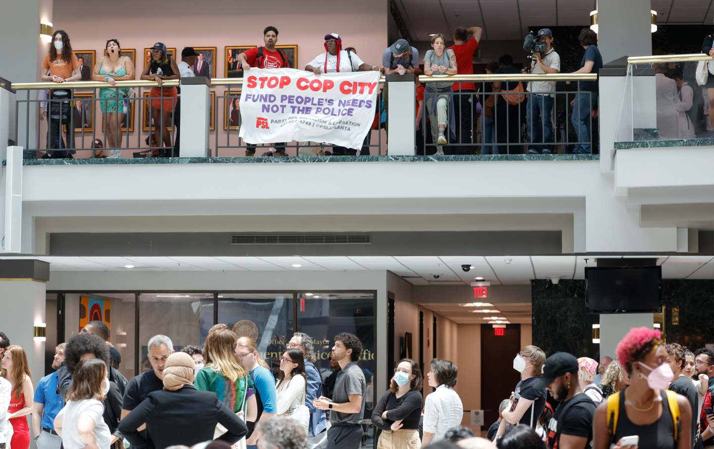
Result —
POLYGON ((556 352, 545 359, 543 376, 535 388, 547 388, 555 401, 553 419, 548 423, 550 449, 590 448, 593 440, 593 416, 595 403, 580 389, 578 359, 567 352, 556 352))

